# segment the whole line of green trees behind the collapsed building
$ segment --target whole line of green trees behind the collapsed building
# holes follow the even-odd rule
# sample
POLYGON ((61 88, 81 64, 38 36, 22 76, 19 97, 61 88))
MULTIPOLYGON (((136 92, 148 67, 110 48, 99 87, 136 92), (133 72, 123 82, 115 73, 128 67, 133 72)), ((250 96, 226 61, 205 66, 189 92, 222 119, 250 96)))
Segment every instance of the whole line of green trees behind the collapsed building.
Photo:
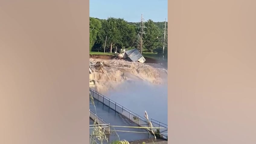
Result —
MULTIPOLYGON (((144 23, 142 48, 146 52, 162 54, 165 22, 147 20, 144 23)), ((167 56, 168 22, 165 31, 165 55, 167 56)), ((116 48, 133 49, 140 47, 140 22, 128 22, 123 18, 98 19, 90 17, 90 51, 113 52, 116 48)))

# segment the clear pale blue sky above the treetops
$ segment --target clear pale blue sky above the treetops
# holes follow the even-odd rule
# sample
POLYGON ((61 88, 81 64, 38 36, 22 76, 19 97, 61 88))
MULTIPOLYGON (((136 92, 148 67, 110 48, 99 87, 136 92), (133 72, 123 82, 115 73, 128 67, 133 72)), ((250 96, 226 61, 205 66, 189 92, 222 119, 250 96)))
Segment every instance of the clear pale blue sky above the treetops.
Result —
POLYGON ((146 20, 166 21, 168 0, 90 0, 90 17, 124 18, 129 22, 139 22, 141 14, 146 20))

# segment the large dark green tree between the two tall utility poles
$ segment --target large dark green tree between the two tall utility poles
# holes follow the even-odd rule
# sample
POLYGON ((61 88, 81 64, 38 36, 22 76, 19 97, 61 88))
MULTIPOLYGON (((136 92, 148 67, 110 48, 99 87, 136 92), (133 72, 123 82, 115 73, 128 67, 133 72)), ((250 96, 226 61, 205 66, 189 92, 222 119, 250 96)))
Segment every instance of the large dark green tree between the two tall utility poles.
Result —
POLYGON ((157 47, 161 46, 161 30, 155 25, 152 20, 145 23, 145 33, 143 34, 143 47, 149 52, 152 52, 157 47))

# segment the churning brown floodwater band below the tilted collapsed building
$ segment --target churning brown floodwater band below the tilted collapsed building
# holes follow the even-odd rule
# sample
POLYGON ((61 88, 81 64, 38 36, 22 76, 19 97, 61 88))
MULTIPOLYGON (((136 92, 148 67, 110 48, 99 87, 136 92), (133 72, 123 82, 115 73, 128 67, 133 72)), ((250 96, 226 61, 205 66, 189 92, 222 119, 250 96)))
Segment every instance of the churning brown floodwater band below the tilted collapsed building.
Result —
POLYGON ((98 92, 104 93, 118 88, 124 82, 149 82, 154 85, 165 85, 167 73, 159 64, 145 64, 117 59, 90 59, 93 86, 98 92), (102 70, 103 72, 102 72, 102 70))

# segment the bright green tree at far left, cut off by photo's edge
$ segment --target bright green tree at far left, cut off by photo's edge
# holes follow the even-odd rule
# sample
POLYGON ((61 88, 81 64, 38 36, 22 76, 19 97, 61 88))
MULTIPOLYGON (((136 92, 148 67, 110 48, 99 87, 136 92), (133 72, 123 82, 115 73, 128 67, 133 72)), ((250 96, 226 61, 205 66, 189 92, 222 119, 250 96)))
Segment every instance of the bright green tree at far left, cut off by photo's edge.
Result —
POLYGON ((90 23, 90 46, 89 46, 89 49, 91 51, 91 48, 94 45, 94 43, 96 42, 97 36, 101 30, 101 22, 96 18, 90 17, 89 23, 90 23))

